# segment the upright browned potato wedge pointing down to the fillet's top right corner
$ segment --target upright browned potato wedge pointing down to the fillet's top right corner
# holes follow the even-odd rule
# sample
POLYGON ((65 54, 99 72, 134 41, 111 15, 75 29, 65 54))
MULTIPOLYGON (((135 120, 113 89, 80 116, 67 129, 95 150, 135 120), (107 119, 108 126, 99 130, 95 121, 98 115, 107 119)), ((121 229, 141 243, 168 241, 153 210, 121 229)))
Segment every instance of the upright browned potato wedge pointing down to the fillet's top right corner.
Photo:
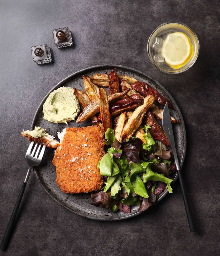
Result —
POLYGON ((106 132, 108 128, 112 128, 112 119, 109 111, 108 96, 106 90, 103 88, 99 90, 99 101, 102 125, 104 132, 106 132))

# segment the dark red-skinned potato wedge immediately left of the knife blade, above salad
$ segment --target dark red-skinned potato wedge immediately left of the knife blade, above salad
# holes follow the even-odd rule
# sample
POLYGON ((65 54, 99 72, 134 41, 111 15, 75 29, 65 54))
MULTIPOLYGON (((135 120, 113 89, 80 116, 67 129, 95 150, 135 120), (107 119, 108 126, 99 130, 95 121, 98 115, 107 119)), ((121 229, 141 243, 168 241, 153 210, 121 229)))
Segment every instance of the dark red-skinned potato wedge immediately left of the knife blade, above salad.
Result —
POLYGON ((162 143, 164 143, 165 146, 170 146, 169 140, 164 130, 154 118, 154 115, 151 113, 150 110, 147 113, 146 124, 151 126, 150 133, 153 138, 155 138, 156 140, 160 140, 162 143))

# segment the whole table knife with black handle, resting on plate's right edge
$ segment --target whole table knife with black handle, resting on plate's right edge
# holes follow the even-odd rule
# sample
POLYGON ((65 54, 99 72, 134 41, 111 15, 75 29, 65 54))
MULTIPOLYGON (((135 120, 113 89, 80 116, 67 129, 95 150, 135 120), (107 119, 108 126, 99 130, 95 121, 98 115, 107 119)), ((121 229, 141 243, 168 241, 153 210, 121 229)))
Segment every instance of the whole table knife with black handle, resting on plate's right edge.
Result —
POLYGON ((188 196, 187 196, 187 193, 186 193, 186 188, 185 188, 181 168, 180 168, 177 153, 176 153, 176 147, 175 147, 175 141, 174 141, 174 136, 173 136, 172 124, 171 124, 171 121, 170 121, 170 114, 169 114, 169 108, 168 108, 167 103, 165 104, 165 107, 164 107, 162 125, 163 125, 163 129, 165 131, 165 134, 166 134, 167 138, 169 139, 169 143, 170 143, 170 146, 171 146, 171 149, 172 149, 172 152, 173 152, 173 157, 174 157, 174 160, 175 160, 176 170, 177 170, 177 173, 178 173, 180 188, 181 188, 181 192, 182 192, 182 198, 183 198, 183 202, 184 202, 184 205, 185 205, 186 215, 187 215, 187 218, 188 218, 189 229, 190 229, 191 232, 195 232, 196 231, 196 224, 195 224, 195 220, 194 220, 192 210, 191 210, 191 207, 190 207, 190 204, 189 204, 189 199, 188 199, 188 196))

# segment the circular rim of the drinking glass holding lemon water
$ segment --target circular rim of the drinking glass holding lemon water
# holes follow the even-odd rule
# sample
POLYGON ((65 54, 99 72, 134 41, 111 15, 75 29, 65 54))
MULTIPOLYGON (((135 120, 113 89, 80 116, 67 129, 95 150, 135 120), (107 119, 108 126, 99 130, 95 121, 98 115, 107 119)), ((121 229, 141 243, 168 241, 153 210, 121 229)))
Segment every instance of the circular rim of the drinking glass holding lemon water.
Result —
POLYGON ((175 75, 175 74, 179 74, 179 73, 182 73, 182 72, 188 70, 189 68, 191 68, 191 67, 195 64, 195 62, 196 62, 196 60, 197 60, 197 58, 198 58, 198 56, 199 56, 199 39, 198 39, 196 33, 195 33, 189 26, 187 26, 186 24, 181 23, 181 22, 177 22, 177 21, 176 21, 176 22, 165 22, 165 23, 162 23, 161 25, 159 25, 158 27, 156 27, 155 30, 154 30, 154 31, 151 33, 151 35, 149 36, 147 50, 148 50, 149 59, 150 59, 150 61, 153 63, 153 65, 154 65, 156 68, 158 68, 160 71, 162 71, 162 72, 164 72, 164 73, 166 73, 166 74, 173 74, 173 75, 175 75), (149 50, 149 42, 150 42, 150 39, 152 38, 153 34, 154 34, 159 28, 161 28, 162 26, 164 26, 164 25, 166 25, 166 24, 180 24, 180 25, 185 26, 186 28, 188 28, 188 29, 193 33, 193 35, 195 36, 196 42, 197 42, 197 44, 198 44, 197 53, 196 53, 196 56, 195 56, 195 59, 193 60, 193 62, 192 62, 187 68, 185 68, 185 69, 183 69, 183 70, 179 70, 179 71, 177 71, 177 72, 170 72, 170 71, 165 71, 165 70, 163 70, 162 68, 160 68, 159 66, 157 66, 157 65, 155 64, 155 62, 153 61, 153 59, 152 59, 152 57, 151 57, 151 55, 150 55, 150 50, 149 50))

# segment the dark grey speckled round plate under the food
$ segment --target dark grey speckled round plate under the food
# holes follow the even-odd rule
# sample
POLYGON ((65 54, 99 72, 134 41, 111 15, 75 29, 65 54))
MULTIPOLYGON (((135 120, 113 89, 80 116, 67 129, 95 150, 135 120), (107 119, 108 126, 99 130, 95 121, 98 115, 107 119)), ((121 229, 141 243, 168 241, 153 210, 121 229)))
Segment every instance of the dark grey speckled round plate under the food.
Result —
MULTIPOLYGON (((67 87, 76 87, 77 89, 84 90, 83 88, 83 81, 81 79, 81 76, 84 74, 87 74, 91 76, 95 73, 109 73, 109 71, 113 68, 117 68, 118 74, 125 74, 132 77, 135 77, 139 81, 147 82, 149 85, 157 89, 163 96, 165 96, 175 107, 175 111, 172 111, 171 114, 174 118, 179 120, 179 123, 176 123, 173 125, 173 132, 176 142, 176 150, 177 154, 180 160, 180 165, 182 166, 184 157, 185 157, 185 150, 186 150, 186 133, 185 133, 185 126, 182 119, 181 112, 172 98, 172 96, 169 94, 169 92, 157 81, 153 80, 149 76, 143 74, 142 72, 124 67, 124 66, 116 66, 116 65, 101 65, 101 66, 94 66, 90 68, 86 68, 83 70, 80 70, 76 73, 73 73, 72 75, 66 77, 61 82, 59 82, 50 92, 54 91, 55 89, 61 87, 61 86, 67 86, 67 87)), ((50 93, 49 92, 49 93, 50 93)), ((50 123, 43 119, 43 104, 45 100, 47 99, 49 93, 45 96, 43 101, 41 102, 40 106, 38 107, 36 114, 34 116, 34 120, 32 122, 32 129, 35 126, 41 126, 47 131, 55 136, 57 138, 56 132, 61 132, 65 127, 67 127, 66 124, 54 124, 50 123)), ((80 124, 76 124, 75 121, 69 122, 68 126, 88 126, 91 125, 90 121, 83 122, 80 124)), ((42 160, 42 163, 39 167, 36 167, 34 169, 35 174, 40 181, 40 183, 43 185, 45 190, 62 206, 67 208, 68 210, 79 214, 81 216, 90 218, 90 219, 96 219, 96 220, 122 220, 130 217, 134 217, 141 212, 138 212, 138 206, 133 206, 131 208, 131 213, 123 213, 123 212, 109 212, 106 208, 98 208, 93 206, 90 199, 90 193, 86 194, 65 194, 61 192, 59 187, 55 183, 56 179, 56 173, 55 173, 55 167, 52 164, 52 159, 54 156, 54 150, 52 149, 46 149, 44 158, 42 160)), ((177 174, 174 176, 174 181, 177 179, 177 174)), ((165 195, 167 194, 167 190, 165 190, 159 197, 159 199, 156 201, 156 203, 160 202, 165 195)))

